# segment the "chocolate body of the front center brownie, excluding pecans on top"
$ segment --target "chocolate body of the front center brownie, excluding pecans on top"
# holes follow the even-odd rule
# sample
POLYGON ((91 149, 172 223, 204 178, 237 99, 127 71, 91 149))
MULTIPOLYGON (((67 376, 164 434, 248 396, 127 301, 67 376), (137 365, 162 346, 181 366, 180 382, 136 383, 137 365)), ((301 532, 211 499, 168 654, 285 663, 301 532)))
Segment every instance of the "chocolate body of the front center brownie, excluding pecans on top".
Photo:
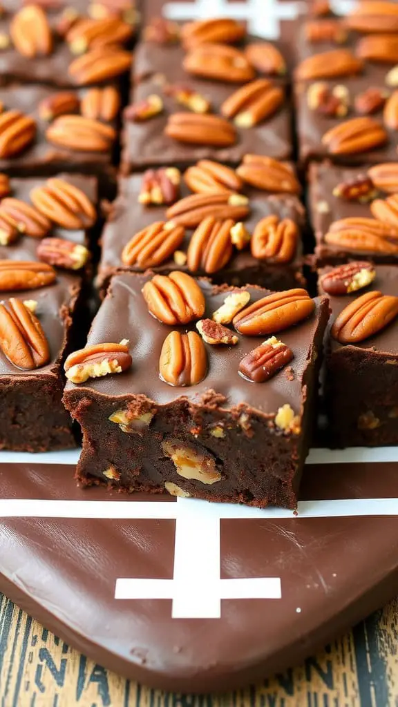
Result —
MULTIPOLYGON (((141 290, 151 277, 115 276, 89 333, 88 346, 130 339, 132 366, 120 375, 91 378, 81 385, 67 383, 64 402, 84 431, 77 478, 82 484, 110 481, 129 491, 158 493, 166 488, 176 495, 212 501, 293 508, 310 442, 329 317, 326 298, 313 302, 305 293, 312 313, 277 334, 293 358, 273 378, 252 382, 239 373, 242 358, 267 339, 264 333, 239 334, 236 345, 203 344, 207 375, 181 387, 180 379, 177 385, 168 385, 167 377, 159 377, 159 356, 173 330, 194 337, 195 321, 173 327, 149 314, 141 290), (178 458, 183 475, 174 464, 178 458), (188 467, 191 464, 191 472, 184 460, 188 467), (204 481, 198 480, 200 469, 204 481)), ((212 286, 206 279, 198 284, 205 296, 205 317, 211 317, 231 293, 249 293, 251 303, 271 295, 256 287, 243 291, 212 286)), ((298 292, 303 297, 304 291, 298 292)), ((296 294, 292 297, 295 300, 296 294)), ((229 337, 232 332, 227 331, 229 337)), ((84 357, 84 350, 81 354, 84 357)), ((94 359, 95 366, 99 359, 94 359)), ((169 363, 172 360, 173 356, 169 363)), ((195 372, 191 370, 188 380, 195 372)))

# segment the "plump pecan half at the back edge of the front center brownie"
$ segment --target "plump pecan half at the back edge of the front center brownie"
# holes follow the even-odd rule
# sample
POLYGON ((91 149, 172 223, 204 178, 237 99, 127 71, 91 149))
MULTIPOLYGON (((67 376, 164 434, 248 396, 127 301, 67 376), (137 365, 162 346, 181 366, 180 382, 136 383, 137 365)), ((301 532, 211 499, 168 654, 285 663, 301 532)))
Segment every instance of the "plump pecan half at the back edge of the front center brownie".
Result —
POLYGON ((188 324, 205 313, 205 296, 191 275, 154 275, 142 288, 149 312, 170 326, 188 324))

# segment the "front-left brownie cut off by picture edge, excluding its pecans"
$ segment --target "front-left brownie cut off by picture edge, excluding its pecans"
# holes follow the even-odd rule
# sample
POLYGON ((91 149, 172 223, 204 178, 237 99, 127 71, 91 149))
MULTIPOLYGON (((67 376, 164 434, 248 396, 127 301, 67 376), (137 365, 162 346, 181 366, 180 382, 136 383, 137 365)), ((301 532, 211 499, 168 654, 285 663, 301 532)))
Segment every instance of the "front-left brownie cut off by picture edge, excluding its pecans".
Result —
POLYGON ((73 345, 72 317, 79 317, 79 289, 79 277, 58 272, 54 284, 39 289, 0 290, 2 307, 12 297, 37 302, 35 315, 50 347, 48 363, 23 370, 4 355, 5 331, 1 328, 0 449, 47 452, 76 446, 72 421, 62 404, 62 363, 73 345))

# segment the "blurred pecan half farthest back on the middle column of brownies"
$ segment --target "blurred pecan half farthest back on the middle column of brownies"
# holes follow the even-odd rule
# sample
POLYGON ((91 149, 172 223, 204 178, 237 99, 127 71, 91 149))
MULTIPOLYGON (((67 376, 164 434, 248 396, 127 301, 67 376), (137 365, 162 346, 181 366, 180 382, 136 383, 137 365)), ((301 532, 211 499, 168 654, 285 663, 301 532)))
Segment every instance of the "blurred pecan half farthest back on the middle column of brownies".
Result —
POLYGON ((186 49, 209 42, 234 44, 245 35, 244 25, 239 25, 235 20, 226 17, 188 22, 181 28, 181 40, 186 49))

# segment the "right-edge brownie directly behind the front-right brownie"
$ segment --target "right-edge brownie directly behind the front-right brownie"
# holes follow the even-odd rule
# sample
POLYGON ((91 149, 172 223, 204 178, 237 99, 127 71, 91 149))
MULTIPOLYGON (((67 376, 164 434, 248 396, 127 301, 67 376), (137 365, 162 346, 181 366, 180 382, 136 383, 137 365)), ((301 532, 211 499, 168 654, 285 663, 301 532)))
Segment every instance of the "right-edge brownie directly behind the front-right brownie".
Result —
MULTIPOLYGON (((370 259, 377 263, 398 264, 398 233, 395 233, 397 224, 394 225, 393 214, 390 216, 392 218, 390 222, 384 221, 384 213, 380 214, 383 216, 381 220, 385 223, 385 238, 377 239, 375 245, 370 242, 368 245, 365 238, 358 242, 358 240, 346 240, 343 235, 337 237, 336 234, 333 243, 326 243, 325 240, 325 238, 329 240, 330 235, 327 234, 333 230, 335 221, 346 218, 369 219, 378 215, 379 212, 373 213, 373 209, 382 206, 385 200, 390 198, 389 194, 394 190, 394 181, 391 179, 396 179, 398 189, 398 178, 394 177, 395 172, 398 175, 397 163, 391 163, 390 167, 387 165, 387 169, 385 165, 345 168, 329 162, 311 165, 308 209, 316 240, 315 260, 319 266, 343 263, 348 257, 370 259), (376 175, 382 177, 382 180, 376 179, 376 175), (384 187, 387 183, 386 175, 392 185, 391 188, 389 187, 389 192, 386 192, 384 187), (370 176, 375 179, 376 184, 370 176), (355 189, 359 189, 359 192, 354 198, 355 189)), ((358 231, 360 222, 348 223, 356 226, 358 231)))

